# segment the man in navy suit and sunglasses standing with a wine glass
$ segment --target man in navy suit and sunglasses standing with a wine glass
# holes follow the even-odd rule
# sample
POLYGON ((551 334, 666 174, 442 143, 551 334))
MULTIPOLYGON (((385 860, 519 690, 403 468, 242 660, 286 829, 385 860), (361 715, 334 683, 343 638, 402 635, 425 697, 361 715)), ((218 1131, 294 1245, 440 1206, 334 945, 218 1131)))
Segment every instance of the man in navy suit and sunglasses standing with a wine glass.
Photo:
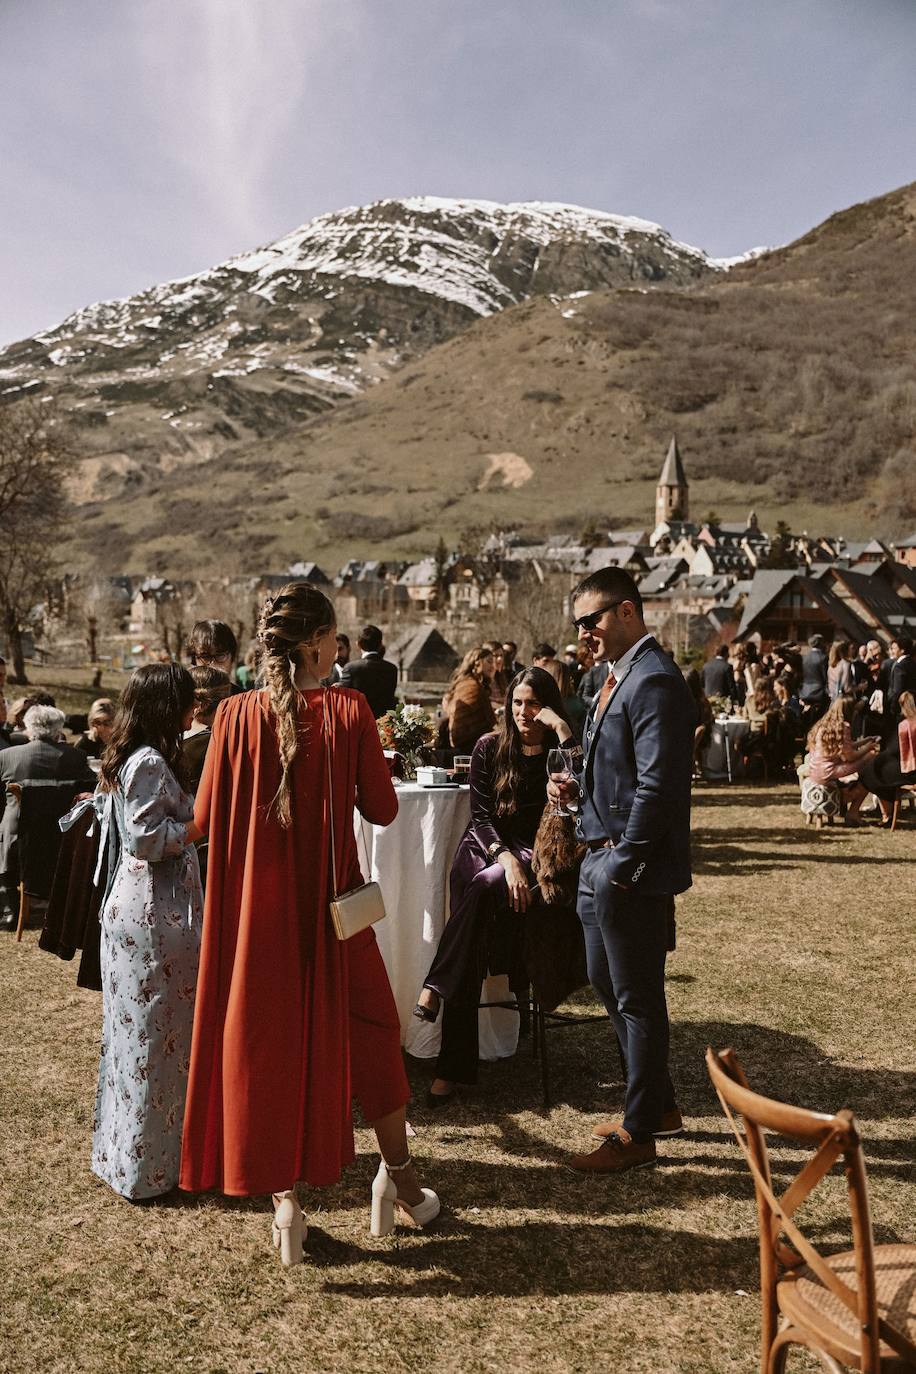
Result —
MULTIPOLYGON (((617 1173, 655 1162, 655 1136, 683 1129, 667 1072, 665 958, 674 894, 691 885, 691 772, 696 706, 684 675, 645 629, 629 573, 604 567, 573 592, 581 640, 604 650, 610 673, 585 724, 577 830, 578 915, 588 973, 614 1022, 626 1066, 622 1121, 569 1160, 617 1173)), ((564 796, 575 785, 548 794, 564 796)))

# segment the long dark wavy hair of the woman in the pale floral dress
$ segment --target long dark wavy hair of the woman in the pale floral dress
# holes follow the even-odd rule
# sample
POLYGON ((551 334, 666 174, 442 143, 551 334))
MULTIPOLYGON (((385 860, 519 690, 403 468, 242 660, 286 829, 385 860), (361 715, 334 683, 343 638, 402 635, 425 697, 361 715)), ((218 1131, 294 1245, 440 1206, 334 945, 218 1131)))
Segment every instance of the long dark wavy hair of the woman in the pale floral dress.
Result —
POLYGON ((124 688, 111 739, 102 754, 102 790, 114 791, 118 774, 128 758, 144 745, 158 749, 181 782, 181 721, 191 706, 194 679, 187 668, 180 664, 146 664, 137 668, 124 688))

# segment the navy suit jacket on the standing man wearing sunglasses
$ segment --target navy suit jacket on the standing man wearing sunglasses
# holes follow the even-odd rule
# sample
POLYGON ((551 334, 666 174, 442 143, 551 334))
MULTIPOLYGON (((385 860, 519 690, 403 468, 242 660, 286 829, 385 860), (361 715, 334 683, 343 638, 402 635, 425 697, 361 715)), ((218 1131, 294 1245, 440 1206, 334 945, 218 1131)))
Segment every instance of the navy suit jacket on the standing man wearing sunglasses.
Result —
MULTIPOLYGON (((597 706, 597 703, 596 703, 597 706)), ((648 639, 585 727, 578 831, 611 840, 607 877, 647 896, 691 886, 698 712, 680 668, 648 639)))

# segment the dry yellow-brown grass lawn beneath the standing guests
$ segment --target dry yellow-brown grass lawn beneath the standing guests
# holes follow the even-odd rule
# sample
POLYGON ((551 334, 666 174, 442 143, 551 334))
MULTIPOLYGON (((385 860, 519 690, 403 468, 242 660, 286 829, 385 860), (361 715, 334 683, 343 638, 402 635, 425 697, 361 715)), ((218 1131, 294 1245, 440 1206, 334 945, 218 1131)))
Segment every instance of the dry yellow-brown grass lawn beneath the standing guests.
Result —
MULTIPOLYGON (((268 1201, 130 1206, 88 1172, 99 996, 76 963, 0 937, 0 1369, 490 1370, 724 1374, 757 1369, 750 1179, 703 1050, 733 1044, 761 1090, 861 1121, 880 1242, 916 1242, 916 824, 821 833, 788 787, 700 787, 696 883, 669 965, 673 1076, 691 1134, 656 1169, 559 1167, 619 1105, 606 1025, 553 1032, 556 1105, 526 1048, 448 1116, 413 1063, 415 1154, 437 1230, 372 1241, 372 1139, 308 1200, 308 1261, 284 1271, 268 1201)), ((549 1032, 548 1032, 549 1035, 549 1032)), ((802 1154, 784 1149, 780 1169, 802 1154)), ((846 1243, 829 1178, 802 1213, 846 1243)), ((791 1369, 812 1369, 794 1356, 791 1369)))

